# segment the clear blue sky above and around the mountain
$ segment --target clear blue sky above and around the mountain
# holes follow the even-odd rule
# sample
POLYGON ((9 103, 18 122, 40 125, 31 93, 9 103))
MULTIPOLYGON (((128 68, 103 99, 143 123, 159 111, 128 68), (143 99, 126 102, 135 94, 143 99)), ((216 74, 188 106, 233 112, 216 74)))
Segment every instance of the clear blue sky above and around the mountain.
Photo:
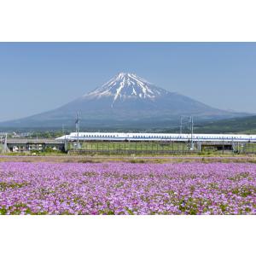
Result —
POLYGON ((60 107, 119 72, 256 113, 254 43, 0 43, 0 121, 60 107))

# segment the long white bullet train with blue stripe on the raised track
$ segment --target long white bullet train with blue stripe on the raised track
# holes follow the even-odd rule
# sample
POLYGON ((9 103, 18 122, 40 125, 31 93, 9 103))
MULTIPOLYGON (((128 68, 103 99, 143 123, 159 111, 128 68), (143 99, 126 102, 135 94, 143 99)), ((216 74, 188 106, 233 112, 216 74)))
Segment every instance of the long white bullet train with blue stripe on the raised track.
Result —
POLYGON ((160 141, 160 142, 241 142, 256 143, 256 135, 246 134, 193 134, 189 133, 123 133, 123 132, 71 132, 56 140, 74 141, 160 141))

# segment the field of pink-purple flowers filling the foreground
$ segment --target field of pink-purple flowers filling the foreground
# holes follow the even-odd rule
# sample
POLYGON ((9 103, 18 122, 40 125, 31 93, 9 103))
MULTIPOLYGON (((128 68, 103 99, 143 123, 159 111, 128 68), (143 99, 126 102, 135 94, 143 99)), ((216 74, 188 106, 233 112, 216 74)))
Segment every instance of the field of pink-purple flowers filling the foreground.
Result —
POLYGON ((0 163, 0 214, 255 213, 255 164, 0 163))

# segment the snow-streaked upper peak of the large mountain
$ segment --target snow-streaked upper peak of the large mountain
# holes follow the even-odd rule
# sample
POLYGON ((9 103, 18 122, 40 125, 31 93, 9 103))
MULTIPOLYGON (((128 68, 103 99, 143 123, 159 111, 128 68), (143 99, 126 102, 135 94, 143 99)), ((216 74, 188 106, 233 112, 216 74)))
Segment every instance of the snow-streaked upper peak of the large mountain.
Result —
POLYGON ((149 99, 154 100, 156 97, 166 93, 166 90, 160 89, 147 80, 137 76, 135 73, 118 73, 106 84, 91 91, 84 97, 102 98, 113 97, 113 102, 117 100, 125 101, 126 99, 149 99))

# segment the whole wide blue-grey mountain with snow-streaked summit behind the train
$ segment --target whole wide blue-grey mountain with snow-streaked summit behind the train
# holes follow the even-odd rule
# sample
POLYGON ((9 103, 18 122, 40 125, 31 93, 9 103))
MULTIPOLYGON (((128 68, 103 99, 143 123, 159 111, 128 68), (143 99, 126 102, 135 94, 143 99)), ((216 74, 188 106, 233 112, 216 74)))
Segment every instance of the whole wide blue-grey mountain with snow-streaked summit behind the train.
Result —
POLYGON ((181 115, 194 115, 198 120, 239 117, 234 113, 212 108, 188 96, 164 90, 135 73, 119 73, 106 84, 80 96, 61 108, 24 119, 0 124, 5 127, 73 126, 80 113, 84 127, 136 127, 177 124, 181 115))

